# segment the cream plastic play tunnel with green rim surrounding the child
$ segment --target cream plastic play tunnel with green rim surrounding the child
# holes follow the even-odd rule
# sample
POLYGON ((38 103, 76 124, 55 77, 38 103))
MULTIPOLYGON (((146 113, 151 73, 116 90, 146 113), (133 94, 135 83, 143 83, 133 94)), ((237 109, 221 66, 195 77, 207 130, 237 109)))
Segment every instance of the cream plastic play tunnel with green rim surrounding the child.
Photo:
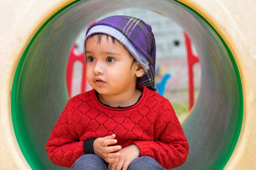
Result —
POLYGON ((256 168, 255 1, 19 0, 0 10, 1 169, 64 169, 45 143, 67 103, 72 45, 96 18, 134 5, 175 20, 200 58, 200 94, 182 125, 190 151, 178 169, 256 168))

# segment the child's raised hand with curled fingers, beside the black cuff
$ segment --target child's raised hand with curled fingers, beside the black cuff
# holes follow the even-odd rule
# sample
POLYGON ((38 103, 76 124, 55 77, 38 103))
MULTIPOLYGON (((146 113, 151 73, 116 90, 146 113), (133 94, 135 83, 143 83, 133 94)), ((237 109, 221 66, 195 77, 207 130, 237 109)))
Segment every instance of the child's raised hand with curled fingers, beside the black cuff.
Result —
POLYGON ((97 138, 93 142, 94 153, 108 163, 118 162, 117 157, 120 155, 120 153, 118 153, 116 151, 118 151, 122 148, 120 145, 108 146, 108 145, 113 145, 113 144, 117 143, 117 140, 115 139, 115 137, 116 137, 116 135, 112 134, 111 136, 97 138), (116 152, 116 153, 112 153, 112 152, 116 152))

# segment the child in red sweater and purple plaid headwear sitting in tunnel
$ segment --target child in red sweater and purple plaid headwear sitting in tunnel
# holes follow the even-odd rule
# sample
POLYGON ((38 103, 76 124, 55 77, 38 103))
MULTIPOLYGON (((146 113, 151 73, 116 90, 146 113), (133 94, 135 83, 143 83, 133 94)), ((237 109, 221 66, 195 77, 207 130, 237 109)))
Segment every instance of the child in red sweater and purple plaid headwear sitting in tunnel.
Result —
POLYGON ((108 17, 84 39, 93 90, 72 97, 46 145, 55 164, 72 169, 170 169, 188 141, 172 105, 154 87, 156 45, 138 18, 108 17))

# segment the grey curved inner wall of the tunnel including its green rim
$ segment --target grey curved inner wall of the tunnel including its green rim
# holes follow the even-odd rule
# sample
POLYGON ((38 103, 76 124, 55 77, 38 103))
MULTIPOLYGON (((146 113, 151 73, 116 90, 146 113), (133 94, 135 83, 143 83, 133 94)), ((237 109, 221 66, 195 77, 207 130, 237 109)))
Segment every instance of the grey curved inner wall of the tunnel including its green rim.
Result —
MULTIPOLYGON (((68 100, 65 73, 77 36, 96 18, 132 5, 127 1, 74 1, 49 18, 29 42, 13 80, 12 118, 20 149, 32 169, 63 169, 48 159, 45 145, 68 100)), ((175 20, 200 58, 200 94, 182 124, 189 141, 188 160, 177 169, 225 167, 243 117, 241 80, 232 53, 214 27, 186 4, 150 0, 136 2, 136 7, 175 20)))

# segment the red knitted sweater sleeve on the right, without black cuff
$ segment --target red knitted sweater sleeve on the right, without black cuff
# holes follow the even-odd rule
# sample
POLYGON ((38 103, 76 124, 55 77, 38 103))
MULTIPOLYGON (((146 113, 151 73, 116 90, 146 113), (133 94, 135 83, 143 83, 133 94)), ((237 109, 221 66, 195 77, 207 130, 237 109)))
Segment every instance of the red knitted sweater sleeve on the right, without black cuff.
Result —
POLYGON ((189 145, 172 105, 163 106, 154 124, 154 141, 134 141, 140 156, 156 159, 166 169, 181 166, 187 159, 189 145))

